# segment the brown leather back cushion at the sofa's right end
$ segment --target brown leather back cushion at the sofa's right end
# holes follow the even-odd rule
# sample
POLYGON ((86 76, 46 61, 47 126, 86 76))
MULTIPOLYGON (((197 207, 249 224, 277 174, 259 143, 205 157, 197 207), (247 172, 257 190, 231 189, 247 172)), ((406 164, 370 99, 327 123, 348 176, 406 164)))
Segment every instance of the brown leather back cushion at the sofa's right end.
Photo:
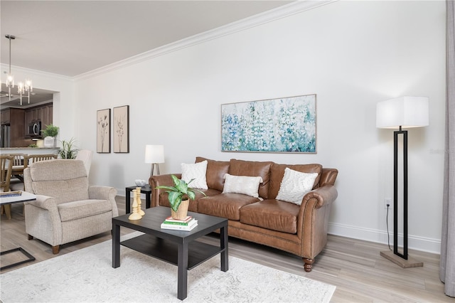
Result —
POLYGON ((292 169, 294 171, 301 171, 302 173, 317 173, 319 176, 316 177, 314 180, 314 186, 311 189, 315 189, 319 187, 319 180, 321 179, 322 173, 322 165, 321 164, 272 164, 270 167, 270 184, 269 184, 269 198, 274 199, 277 198, 279 188, 281 186, 283 176, 284 176, 284 169, 286 168, 292 169))

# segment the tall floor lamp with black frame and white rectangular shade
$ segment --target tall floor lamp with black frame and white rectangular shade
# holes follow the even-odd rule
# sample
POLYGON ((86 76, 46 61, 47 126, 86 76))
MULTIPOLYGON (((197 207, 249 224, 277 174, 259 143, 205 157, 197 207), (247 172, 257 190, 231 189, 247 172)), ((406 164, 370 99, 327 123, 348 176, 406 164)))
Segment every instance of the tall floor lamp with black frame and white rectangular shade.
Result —
POLYGON ((380 252, 382 257, 400 265, 403 268, 423 266, 423 262, 414 260, 407 254, 407 130, 404 128, 424 127, 429 124, 428 97, 399 97, 379 102, 376 106, 376 127, 398 129, 393 132, 393 252, 380 252), (399 139, 401 137, 402 153, 399 154, 399 139), (399 165, 401 156, 402 166, 399 165), (401 169, 402 179, 399 180, 401 169), (402 181, 403 204, 403 252, 398 251, 398 201, 399 181, 402 181))

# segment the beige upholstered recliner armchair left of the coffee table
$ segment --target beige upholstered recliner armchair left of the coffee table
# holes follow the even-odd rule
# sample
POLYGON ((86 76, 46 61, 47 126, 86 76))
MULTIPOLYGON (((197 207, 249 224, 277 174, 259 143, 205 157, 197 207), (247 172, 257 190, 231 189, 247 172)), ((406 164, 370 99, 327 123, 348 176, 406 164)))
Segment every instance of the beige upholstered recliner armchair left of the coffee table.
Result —
POLYGON ((35 162, 23 171, 23 179, 26 191, 37 196, 24 203, 28 240, 43 240, 57 254, 60 245, 112 230, 112 217, 119 215, 117 190, 89 186, 82 161, 35 162))

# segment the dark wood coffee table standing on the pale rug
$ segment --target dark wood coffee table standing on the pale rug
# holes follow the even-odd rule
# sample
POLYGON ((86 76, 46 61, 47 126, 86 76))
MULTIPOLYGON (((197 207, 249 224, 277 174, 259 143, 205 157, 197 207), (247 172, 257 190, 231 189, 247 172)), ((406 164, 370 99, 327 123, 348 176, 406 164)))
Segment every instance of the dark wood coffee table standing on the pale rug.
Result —
POLYGON ((129 214, 112 218, 112 267, 120 266, 120 245, 156 257, 178 267, 177 297, 185 299, 188 270, 211 257, 221 255, 221 270, 228 271, 228 219, 188 212, 198 220, 191 231, 161 229, 171 208, 158 206, 145 210, 141 220, 129 220, 129 214), (139 230, 144 235, 120 242, 120 226, 139 230), (198 238, 220 229, 220 246, 198 241, 198 238))

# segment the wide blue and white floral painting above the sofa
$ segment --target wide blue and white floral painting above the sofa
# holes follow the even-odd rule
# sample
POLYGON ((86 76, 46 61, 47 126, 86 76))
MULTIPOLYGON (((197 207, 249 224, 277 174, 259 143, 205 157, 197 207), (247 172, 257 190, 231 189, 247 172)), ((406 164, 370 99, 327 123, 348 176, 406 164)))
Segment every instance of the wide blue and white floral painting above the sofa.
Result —
POLYGON ((316 95, 221 105, 221 151, 316 153, 316 95))

